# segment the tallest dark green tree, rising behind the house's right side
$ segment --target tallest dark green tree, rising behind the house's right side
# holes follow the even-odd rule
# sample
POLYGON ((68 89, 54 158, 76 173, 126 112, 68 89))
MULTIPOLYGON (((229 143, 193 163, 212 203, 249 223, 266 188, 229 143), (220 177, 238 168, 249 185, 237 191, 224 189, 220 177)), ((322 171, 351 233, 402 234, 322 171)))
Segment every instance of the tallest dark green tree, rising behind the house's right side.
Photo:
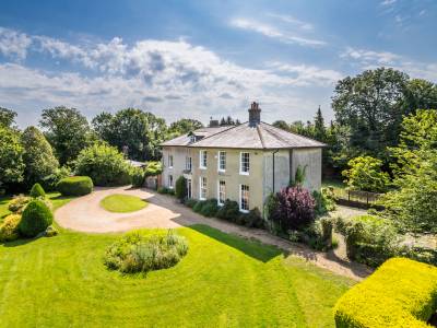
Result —
POLYGON ((351 128, 350 147, 374 156, 385 156, 395 145, 409 77, 393 69, 366 70, 338 82, 332 97, 336 121, 351 128))

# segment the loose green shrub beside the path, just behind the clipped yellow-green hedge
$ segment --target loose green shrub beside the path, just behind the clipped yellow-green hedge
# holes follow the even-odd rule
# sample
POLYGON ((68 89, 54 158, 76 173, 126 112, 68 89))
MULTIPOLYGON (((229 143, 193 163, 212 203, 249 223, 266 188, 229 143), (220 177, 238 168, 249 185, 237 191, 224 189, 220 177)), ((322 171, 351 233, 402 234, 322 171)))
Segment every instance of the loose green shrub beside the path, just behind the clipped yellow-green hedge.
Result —
POLYGON ((344 236, 350 259, 377 267, 400 251, 393 224, 385 219, 362 215, 336 219, 336 230, 344 236))

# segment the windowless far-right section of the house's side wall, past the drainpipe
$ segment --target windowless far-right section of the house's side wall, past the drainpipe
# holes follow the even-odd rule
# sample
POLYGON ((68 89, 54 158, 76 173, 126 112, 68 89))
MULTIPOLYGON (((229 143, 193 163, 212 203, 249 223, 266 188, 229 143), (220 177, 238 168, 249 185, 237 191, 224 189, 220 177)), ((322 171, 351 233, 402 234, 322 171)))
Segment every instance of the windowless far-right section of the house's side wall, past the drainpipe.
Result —
POLYGON ((292 177, 298 166, 306 167, 304 187, 314 191, 321 187, 321 148, 293 149, 291 153, 292 177))

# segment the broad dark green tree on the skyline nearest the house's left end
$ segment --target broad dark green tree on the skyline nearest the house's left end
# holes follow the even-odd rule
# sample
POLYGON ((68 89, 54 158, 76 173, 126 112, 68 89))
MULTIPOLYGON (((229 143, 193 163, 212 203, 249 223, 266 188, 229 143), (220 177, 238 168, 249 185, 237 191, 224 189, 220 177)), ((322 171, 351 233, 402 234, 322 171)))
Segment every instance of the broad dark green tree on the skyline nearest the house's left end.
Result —
POLYGON ((120 151, 128 150, 138 161, 160 159, 160 144, 165 140, 165 120, 141 109, 127 108, 115 115, 102 113, 92 121, 95 132, 120 151))

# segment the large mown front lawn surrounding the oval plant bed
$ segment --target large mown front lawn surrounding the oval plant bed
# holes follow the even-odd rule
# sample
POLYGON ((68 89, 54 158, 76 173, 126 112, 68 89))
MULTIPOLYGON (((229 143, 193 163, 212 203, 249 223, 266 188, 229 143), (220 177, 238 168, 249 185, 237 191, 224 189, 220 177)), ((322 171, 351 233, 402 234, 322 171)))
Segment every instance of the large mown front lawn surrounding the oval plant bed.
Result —
POLYGON ((146 278, 106 269, 116 234, 0 245, 0 326, 333 327, 350 280, 209 226, 179 233, 187 256, 146 278))

